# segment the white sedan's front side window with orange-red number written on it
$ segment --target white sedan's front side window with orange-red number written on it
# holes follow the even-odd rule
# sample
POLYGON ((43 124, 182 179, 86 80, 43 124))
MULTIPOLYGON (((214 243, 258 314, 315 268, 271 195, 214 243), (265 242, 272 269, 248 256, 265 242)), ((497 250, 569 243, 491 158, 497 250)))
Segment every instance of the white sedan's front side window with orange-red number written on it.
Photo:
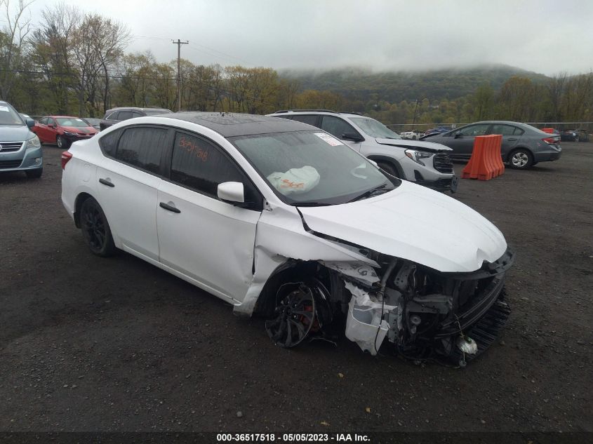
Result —
POLYGON ((241 170, 218 147, 200 137, 186 133, 175 135, 171 180, 217 198, 218 184, 241 182, 245 201, 257 201, 257 193, 241 170))

